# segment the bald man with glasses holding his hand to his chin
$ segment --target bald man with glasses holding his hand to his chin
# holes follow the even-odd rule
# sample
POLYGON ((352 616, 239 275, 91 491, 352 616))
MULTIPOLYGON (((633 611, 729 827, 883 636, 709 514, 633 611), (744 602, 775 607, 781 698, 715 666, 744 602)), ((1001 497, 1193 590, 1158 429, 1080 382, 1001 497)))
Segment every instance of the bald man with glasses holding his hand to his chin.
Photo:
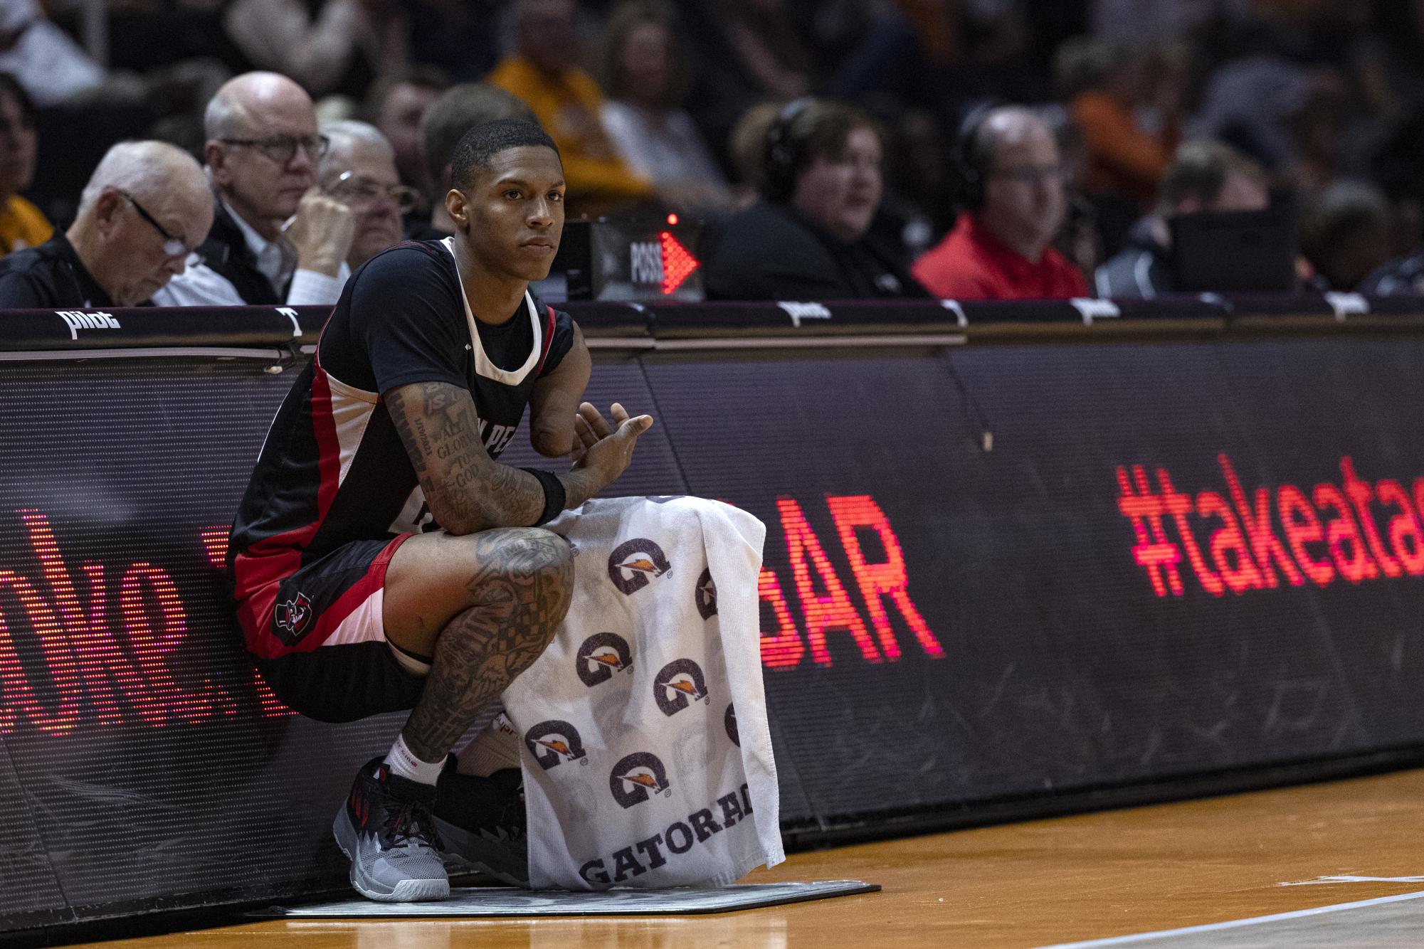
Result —
POLYGON ((350 276, 350 209, 318 192, 326 139, 300 85, 244 73, 204 114, 204 161, 216 192, 212 230, 159 306, 328 304, 350 276))

